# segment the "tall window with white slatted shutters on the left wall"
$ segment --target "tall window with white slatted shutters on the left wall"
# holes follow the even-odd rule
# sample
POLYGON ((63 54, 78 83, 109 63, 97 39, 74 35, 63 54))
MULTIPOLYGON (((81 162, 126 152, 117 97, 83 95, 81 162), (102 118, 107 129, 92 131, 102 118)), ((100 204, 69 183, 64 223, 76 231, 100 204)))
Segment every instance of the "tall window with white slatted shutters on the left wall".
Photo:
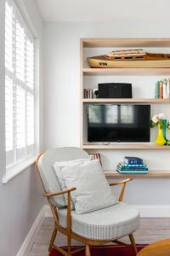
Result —
POLYGON ((14 2, 5 6, 6 166, 35 154, 35 42, 14 2))

